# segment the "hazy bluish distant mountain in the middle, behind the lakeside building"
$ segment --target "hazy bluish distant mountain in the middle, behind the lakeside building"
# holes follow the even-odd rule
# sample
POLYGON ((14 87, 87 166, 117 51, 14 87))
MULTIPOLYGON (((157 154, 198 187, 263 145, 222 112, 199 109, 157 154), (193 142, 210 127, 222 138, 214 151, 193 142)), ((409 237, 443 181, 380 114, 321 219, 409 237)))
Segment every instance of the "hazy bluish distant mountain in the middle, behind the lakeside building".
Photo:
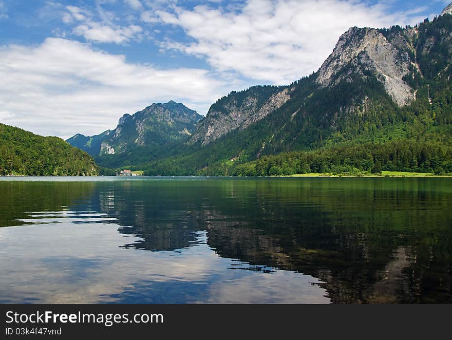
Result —
POLYGON ((134 115, 123 115, 114 130, 88 137, 76 134, 67 142, 93 156, 122 154, 140 146, 163 147, 191 136, 202 118, 181 103, 154 103, 134 115))

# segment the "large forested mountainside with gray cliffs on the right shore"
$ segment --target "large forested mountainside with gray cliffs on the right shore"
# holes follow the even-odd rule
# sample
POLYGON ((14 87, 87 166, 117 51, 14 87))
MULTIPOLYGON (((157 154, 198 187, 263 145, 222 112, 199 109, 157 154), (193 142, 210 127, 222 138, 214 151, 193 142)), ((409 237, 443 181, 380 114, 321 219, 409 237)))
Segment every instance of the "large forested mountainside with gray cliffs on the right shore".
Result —
MULTIPOLYGON (((281 160, 281 173, 292 174, 308 171, 303 169, 306 156, 313 157, 308 162, 311 172, 367 171, 377 163, 383 170, 450 172, 451 32, 449 14, 416 27, 352 28, 318 72, 286 88, 274 88, 272 93, 285 90, 290 96, 279 108, 246 128, 222 133, 208 145, 196 139, 179 155, 140 167, 149 175, 271 175, 271 166, 254 172, 250 164, 281 160), (379 54, 382 46, 386 59, 379 54), (356 152, 368 162, 362 165, 347 156, 356 152), (272 157, 280 153, 284 154, 272 157), (282 161, 285 158, 291 161, 282 161), (317 166, 317 158, 325 166, 317 166)), ((256 102, 255 91, 242 92, 240 100, 256 102)), ((228 115, 229 107, 236 110, 235 97, 232 93, 213 105, 215 116, 228 115)), ((209 115, 203 124, 208 120, 209 115)), ((278 167, 272 174, 280 173, 278 167)))

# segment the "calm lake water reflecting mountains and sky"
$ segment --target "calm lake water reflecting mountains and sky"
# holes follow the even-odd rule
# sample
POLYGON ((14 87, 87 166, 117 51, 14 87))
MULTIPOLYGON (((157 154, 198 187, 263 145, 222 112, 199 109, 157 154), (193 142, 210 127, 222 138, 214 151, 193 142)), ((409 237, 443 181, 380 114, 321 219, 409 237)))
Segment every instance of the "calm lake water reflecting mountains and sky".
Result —
POLYGON ((0 178, 0 303, 452 303, 452 179, 0 178))

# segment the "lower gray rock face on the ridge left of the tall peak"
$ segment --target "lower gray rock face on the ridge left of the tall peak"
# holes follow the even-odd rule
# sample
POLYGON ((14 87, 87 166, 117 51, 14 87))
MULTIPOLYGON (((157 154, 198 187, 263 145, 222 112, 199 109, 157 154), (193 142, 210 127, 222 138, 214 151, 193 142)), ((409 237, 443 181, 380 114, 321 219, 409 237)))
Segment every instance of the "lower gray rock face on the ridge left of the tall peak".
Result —
POLYGON ((212 105, 189 143, 207 145, 230 131, 247 128, 283 106, 290 99, 289 92, 287 87, 276 91, 263 104, 252 91, 241 102, 231 93, 224 104, 212 105))

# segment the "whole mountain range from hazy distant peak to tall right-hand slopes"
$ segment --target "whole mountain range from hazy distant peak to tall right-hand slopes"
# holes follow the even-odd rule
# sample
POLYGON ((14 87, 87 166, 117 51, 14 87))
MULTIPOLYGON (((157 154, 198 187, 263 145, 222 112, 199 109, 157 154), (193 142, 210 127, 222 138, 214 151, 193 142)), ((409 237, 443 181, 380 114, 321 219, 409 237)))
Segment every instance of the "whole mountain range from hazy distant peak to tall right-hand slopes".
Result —
POLYGON ((451 11, 452 4, 415 27, 352 27, 308 77, 232 91, 205 118, 181 103, 152 104, 124 115, 114 130, 68 142, 102 166, 149 175, 269 175, 272 167, 275 174, 446 171, 452 159, 451 11), (342 156, 357 146, 365 165, 342 156), (309 164, 300 165, 300 158, 309 164), (265 171, 257 171, 259 162, 265 171))

